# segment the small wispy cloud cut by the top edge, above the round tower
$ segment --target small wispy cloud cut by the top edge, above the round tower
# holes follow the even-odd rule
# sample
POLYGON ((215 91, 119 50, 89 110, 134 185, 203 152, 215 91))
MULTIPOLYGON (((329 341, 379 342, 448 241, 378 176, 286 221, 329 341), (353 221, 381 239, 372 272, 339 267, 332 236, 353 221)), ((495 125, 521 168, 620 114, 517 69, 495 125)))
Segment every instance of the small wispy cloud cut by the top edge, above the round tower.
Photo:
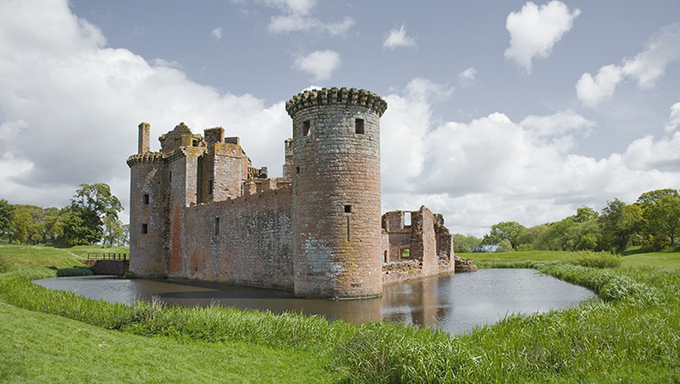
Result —
POLYGON ((337 36, 354 25, 354 19, 349 16, 339 21, 318 19, 314 14, 316 0, 263 0, 261 3, 283 12, 269 20, 268 31, 274 34, 317 31, 337 36))

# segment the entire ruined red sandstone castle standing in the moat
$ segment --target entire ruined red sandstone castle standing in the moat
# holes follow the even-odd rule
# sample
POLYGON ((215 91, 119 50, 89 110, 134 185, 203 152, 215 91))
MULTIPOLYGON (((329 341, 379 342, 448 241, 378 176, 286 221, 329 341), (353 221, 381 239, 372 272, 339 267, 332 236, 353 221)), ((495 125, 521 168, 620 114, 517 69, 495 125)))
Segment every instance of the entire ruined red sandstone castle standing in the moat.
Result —
POLYGON ((221 127, 185 124, 149 149, 139 126, 131 169, 130 270, 219 281, 299 297, 380 296, 382 284, 452 273, 441 215, 380 215, 380 116, 372 92, 331 88, 286 103, 292 139, 283 177, 254 168, 221 127), (409 217, 410 216, 410 222, 409 217))

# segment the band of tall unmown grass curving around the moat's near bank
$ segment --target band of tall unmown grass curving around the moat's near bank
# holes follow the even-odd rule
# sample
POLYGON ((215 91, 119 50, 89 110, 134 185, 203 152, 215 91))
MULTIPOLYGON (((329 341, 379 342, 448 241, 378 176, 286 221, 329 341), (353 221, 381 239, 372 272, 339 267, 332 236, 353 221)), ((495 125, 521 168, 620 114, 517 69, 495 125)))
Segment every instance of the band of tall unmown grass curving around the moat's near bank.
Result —
POLYGON ((235 308, 132 307, 49 291, 31 278, 49 268, 0 275, 0 300, 145 336, 244 341, 314 351, 346 383, 678 382, 680 275, 664 268, 589 268, 564 261, 480 261, 537 268, 587 286, 603 299, 579 308, 508 316, 451 337, 395 323, 329 324, 318 316, 235 308))

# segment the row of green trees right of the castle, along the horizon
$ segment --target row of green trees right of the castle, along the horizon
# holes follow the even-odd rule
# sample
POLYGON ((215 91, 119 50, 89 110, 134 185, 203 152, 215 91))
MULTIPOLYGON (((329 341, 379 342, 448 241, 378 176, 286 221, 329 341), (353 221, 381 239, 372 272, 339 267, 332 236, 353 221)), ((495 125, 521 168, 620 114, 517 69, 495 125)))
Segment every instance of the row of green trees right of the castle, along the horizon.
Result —
POLYGON ((655 252, 676 245, 680 235, 680 191, 645 192, 633 204, 615 198, 601 212, 580 207, 564 220, 525 228, 516 221, 492 226, 484 238, 453 235, 455 252, 610 251, 640 246, 655 252))

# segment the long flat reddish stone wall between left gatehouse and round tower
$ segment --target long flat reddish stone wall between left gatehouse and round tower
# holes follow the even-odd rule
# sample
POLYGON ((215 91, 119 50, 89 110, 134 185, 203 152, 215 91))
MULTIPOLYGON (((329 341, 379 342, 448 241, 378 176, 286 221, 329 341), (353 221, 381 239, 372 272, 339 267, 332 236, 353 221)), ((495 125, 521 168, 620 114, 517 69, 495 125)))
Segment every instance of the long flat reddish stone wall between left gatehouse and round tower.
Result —
POLYGON ((292 188, 186 209, 173 276, 293 289, 292 188))

